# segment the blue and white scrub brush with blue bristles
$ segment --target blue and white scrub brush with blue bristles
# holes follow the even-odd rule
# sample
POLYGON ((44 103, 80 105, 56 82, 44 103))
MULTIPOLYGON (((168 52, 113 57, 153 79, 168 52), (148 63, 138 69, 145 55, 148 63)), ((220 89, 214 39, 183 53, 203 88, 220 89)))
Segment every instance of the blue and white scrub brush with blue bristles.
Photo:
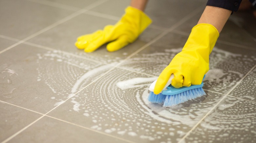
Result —
POLYGON ((157 82, 154 81, 149 87, 150 93, 148 96, 148 101, 152 103, 160 103, 163 104, 163 107, 168 107, 206 95, 206 93, 203 91, 203 82, 200 85, 175 88, 171 85, 173 78, 174 75, 172 74, 167 84, 163 88, 164 90, 162 90, 162 92, 159 94, 154 94, 154 88, 157 82))

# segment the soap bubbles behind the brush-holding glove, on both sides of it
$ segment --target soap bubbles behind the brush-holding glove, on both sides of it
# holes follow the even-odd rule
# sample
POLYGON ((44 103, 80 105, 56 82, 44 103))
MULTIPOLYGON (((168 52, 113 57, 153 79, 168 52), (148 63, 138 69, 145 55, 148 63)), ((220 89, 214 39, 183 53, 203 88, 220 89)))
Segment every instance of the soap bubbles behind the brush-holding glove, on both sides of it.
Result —
MULTIPOLYGON (((182 47, 160 49, 154 53, 150 48, 140 52, 126 61, 122 66, 135 71, 159 76, 172 58, 181 52, 182 47)), ((204 80, 204 87, 221 93, 226 93, 255 64, 256 56, 234 54, 214 47, 209 59, 209 68, 204 80)))

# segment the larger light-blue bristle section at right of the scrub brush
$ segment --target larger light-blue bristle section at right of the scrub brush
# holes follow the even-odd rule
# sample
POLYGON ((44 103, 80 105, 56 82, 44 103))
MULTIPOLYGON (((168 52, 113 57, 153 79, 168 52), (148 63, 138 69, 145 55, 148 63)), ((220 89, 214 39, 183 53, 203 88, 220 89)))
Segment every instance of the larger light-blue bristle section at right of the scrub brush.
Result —
POLYGON ((184 103, 184 102, 187 102, 188 100, 196 99, 203 95, 206 95, 206 93, 203 91, 202 87, 187 90, 175 95, 166 95, 163 103, 163 107, 169 107, 169 106, 177 105, 180 103, 184 103))

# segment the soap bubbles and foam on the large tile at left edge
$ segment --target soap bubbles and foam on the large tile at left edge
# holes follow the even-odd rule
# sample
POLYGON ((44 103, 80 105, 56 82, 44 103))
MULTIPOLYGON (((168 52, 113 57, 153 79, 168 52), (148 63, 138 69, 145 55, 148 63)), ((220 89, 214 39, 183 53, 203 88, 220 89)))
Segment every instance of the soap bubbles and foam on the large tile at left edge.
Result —
MULTIPOLYGON (((73 97, 74 93, 81 90, 96 77, 93 74, 103 72, 108 67, 97 62, 88 62, 79 57, 67 55, 61 51, 48 51, 37 54, 38 77, 37 81, 46 84, 57 96, 55 106, 64 103, 67 98, 73 97), (69 90, 71 88, 71 90, 69 90)), ((51 98, 53 99, 53 98, 51 98)), ((72 100, 75 110, 79 110, 79 103, 72 100)))

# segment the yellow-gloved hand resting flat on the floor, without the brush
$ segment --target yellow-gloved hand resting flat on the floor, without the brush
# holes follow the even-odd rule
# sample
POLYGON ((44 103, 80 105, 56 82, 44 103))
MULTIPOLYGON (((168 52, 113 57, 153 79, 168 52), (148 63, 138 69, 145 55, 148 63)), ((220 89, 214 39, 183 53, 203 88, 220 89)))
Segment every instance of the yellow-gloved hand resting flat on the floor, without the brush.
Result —
POLYGON ((143 11, 129 6, 117 24, 107 25, 104 30, 78 37, 75 46, 84 49, 85 52, 93 52, 101 45, 110 42, 107 50, 114 52, 134 42, 151 22, 143 11))

